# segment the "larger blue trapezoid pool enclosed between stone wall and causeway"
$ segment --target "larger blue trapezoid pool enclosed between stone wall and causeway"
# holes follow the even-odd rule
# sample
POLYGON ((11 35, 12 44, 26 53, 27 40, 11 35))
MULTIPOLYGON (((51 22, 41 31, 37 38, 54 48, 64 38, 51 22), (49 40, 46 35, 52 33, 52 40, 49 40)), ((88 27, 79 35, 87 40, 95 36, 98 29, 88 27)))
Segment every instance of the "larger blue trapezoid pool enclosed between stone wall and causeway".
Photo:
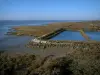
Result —
POLYGON ((85 40, 80 32, 75 31, 64 31, 59 35, 52 38, 52 40, 85 40))

